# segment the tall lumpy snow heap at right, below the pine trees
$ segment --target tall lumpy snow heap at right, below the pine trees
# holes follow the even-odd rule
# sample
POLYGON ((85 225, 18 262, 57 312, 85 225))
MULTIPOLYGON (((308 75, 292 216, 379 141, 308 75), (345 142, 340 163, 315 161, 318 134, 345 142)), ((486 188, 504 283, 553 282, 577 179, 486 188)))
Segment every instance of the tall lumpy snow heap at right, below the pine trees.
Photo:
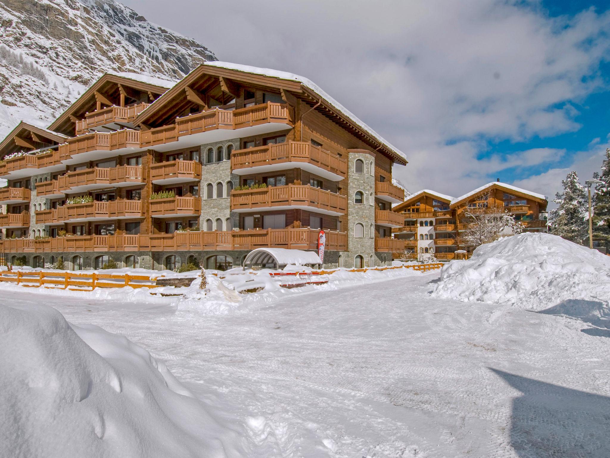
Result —
POLYGON ((443 267, 433 296, 542 310, 570 299, 608 304, 610 256, 558 236, 523 233, 443 267))

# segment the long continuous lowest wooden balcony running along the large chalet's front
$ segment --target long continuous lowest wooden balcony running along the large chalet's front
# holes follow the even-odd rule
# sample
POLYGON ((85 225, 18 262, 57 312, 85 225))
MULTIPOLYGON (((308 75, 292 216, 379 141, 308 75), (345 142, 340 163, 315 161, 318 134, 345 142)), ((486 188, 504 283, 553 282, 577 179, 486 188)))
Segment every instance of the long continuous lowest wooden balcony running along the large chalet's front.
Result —
MULTIPOLYGON (((260 247, 317 250, 318 232, 317 229, 299 228, 149 235, 66 236, 40 240, 7 239, 0 241, 0 251, 5 253, 194 251, 253 250, 260 247)), ((326 231, 326 250, 345 251, 346 249, 346 233, 326 231)))

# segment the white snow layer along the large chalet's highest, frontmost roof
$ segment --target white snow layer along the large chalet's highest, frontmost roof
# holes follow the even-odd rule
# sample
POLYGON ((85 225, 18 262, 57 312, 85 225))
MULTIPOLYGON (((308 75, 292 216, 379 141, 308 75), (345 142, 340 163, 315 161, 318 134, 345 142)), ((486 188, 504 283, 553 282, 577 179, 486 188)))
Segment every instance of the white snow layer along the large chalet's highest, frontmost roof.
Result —
POLYGON ((337 111, 343 114, 346 118, 350 119, 352 122, 354 122, 362 130, 370 134, 372 137, 375 137, 376 140, 386 145, 386 147, 392 150, 393 153, 395 153, 405 162, 407 161, 407 158, 404 156, 404 153, 402 151, 390 144, 390 142, 388 142, 386 139, 376 133, 366 123, 362 122, 362 120, 357 118, 356 115, 346 109, 346 107, 344 107, 338 101, 334 100, 334 98, 328 95, 328 93, 326 93, 323 89, 321 89, 320 86, 315 84, 315 82, 311 81, 309 78, 305 78, 304 76, 300 75, 295 75, 295 73, 289 73, 287 71, 273 70, 271 68, 251 67, 250 65, 232 64, 231 62, 218 62, 218 60, 204 62, 203 65, 207 65, 209 67, 227 68, 228 70, 243 71, 245 73, 254 73, 256 75, 271 76, 272 78, 287 79, 289 81, 298 81, 304 86, 306 86, 308 89, 320 95, 329 104, 336 108, 337 111))

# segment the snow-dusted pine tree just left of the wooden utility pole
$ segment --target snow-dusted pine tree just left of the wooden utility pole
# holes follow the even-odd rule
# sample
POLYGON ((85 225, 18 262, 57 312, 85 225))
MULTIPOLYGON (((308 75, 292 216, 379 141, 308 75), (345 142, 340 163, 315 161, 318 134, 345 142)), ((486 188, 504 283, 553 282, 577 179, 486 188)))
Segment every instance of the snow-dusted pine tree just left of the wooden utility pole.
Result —
POLYGON ((561 181, 563 192, 555 194, 553 202, 558 205, 551 210, 551 234, 558 235, 572 242, 583 244, 587 237, 589 201, 584 186, 578 181, 578 173, 570 172, 561 181))

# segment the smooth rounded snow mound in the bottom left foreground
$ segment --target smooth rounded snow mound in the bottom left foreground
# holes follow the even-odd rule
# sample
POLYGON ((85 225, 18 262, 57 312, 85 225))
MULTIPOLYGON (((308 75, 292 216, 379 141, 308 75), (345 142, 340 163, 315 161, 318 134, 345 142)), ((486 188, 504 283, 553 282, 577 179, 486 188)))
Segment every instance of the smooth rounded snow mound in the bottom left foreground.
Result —
POLYGON ((123 336, 0 305, 0 347, 0 456, 244 455, 236 431, 123 336))

